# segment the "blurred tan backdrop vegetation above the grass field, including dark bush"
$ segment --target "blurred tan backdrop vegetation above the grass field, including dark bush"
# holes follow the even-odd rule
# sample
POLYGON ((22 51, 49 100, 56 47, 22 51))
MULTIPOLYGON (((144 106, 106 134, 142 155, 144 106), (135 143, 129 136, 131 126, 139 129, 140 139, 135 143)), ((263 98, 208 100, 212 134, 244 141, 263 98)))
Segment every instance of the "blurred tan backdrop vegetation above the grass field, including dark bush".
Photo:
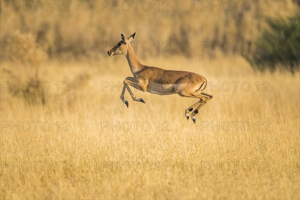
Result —
POLYGON ((33 1, 29 1, 28 11, 22 1, 5 2, 9 5, 1 1, 0 11, 2 42, 51 44, 47 51, 40 47, 23 52, 1 48, 1 61, 20 62, 33 71, 46 59, 100 59, 120 40, 121 33, 133 32, 141 58, 179 54, 187 58, 243 56, 260 70, 281 65, 290 71, 299 69, 298 0, 241 0, 236 7, 231 1, 147 1, 151 6, 148 11, 141 8, 143 1, 136 4, 136 9, 131 1, 127 1, 130 9, 124 1, 47 1, 51 3, 48 11, 41 9, 41 3, 35 11, 33 1), (226 2, 230 2, 230 9, 226 2), (11 7, 17 3, 23 8, 11 7), (145 41, 151 45, 149 50, 141 47, 145 41))

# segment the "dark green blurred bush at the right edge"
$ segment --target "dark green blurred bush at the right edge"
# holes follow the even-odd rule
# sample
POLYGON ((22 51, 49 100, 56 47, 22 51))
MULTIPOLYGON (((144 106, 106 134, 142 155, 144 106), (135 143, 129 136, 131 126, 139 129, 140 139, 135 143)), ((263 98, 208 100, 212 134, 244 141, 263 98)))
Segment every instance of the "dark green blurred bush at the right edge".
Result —
POLYGON ((300 15, 283 19, 267 18, 269 29, 259 39, 259 49, 243 54, 259 70, 274 70, 276 66, 294 72, 300 63, 300 15), (261 45, 264 44, 264 45, 261 45))

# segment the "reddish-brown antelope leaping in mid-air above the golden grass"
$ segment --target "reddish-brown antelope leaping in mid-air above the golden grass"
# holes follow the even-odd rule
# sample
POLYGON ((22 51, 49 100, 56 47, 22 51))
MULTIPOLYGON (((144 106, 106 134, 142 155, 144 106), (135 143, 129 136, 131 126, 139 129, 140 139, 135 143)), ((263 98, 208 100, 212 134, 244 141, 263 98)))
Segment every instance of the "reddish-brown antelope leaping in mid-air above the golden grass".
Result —
POLYGON ((185 116, 188 119, 188 113, 191 112, 191 119, 195 123, 195 114, 208 100, 211 95, 203 93, 206 87, 206 79, 202 75, 188 72, 165 70, 154 66, 146 66, 140 63, 130 45, 130 41, 134 38, 135 32, 128 38, 121 34, 120 40, 113 48, 107 51, 109 56, 124 54, 127 58, 133 77, 126 77, 123 81, 124 86, 121 93, 122 101, 128 107, 128 101, 124 99, 125 88, 127 88, 131 97, 135 101, 143 102, 142 98, 136 98, 128 85, 141 91, 148 91, 159 95, 167 95, 177 93, 180 96, 199 98, 199 101, 185 109, 185 116))

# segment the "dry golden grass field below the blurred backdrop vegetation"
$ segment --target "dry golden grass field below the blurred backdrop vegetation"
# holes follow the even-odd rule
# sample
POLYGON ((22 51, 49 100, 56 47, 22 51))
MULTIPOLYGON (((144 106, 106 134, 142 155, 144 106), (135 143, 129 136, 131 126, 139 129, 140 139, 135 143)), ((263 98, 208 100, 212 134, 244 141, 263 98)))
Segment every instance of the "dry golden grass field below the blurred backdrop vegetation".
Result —
MULTIPOLYGON (((84 27, 82 21, 78 25, 84 27)), ((2 27, 5 33, 8 26, 2 27)), ((124 28, 130 30, 112 31, 107 40, 115 44, 120 33, 133 33, 124 28)), ((136 32, 136 39, 145 37, 136 32)), ((22 30, 7 36, 20 41, 31 37, 22 30)), ((191 42, 191 49, 195 45, 191 42)), ((298 71, 258 72, 238 54, 197 57, 160 50, 154 56, 155 50, 137 48, 143 64, 207 78, 204 91, 213 98, 194 124, 184 110, 196 99, 177 94, 133 89, 145 104, 126 92, 127 108, 119 96, 131 72, 123 55, 106 55, 110 47, 78 59, 1 51, 1 199, 300 198, 298 71)))

